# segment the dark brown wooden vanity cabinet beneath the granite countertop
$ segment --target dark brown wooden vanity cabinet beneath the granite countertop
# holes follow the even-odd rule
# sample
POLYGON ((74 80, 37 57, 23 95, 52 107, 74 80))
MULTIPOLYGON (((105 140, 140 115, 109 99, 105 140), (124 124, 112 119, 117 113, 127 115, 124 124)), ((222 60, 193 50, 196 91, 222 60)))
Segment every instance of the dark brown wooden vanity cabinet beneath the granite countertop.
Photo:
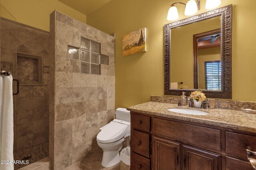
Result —
POLYGON ((131 111, 131 170, 254 170, 256 133, 131 111))

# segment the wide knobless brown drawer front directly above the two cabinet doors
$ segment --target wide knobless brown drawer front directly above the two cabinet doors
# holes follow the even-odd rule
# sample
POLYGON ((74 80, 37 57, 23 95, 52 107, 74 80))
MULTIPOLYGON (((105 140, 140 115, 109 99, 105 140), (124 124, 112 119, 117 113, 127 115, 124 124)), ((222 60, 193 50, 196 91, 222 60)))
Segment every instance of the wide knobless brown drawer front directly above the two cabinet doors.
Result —
POLYGON ((152 132, 180 142, 221 150, 220 130, 153 118, 152 132))

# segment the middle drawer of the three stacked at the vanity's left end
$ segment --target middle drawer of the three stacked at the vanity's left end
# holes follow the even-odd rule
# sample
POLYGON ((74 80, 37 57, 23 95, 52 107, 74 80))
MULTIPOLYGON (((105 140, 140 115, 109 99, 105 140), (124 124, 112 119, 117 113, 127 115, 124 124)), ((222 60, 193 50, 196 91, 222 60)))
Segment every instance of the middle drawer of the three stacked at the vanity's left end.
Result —
POLYGON ((131 150, 149 158, 149 134, 132 130, 131 150))

